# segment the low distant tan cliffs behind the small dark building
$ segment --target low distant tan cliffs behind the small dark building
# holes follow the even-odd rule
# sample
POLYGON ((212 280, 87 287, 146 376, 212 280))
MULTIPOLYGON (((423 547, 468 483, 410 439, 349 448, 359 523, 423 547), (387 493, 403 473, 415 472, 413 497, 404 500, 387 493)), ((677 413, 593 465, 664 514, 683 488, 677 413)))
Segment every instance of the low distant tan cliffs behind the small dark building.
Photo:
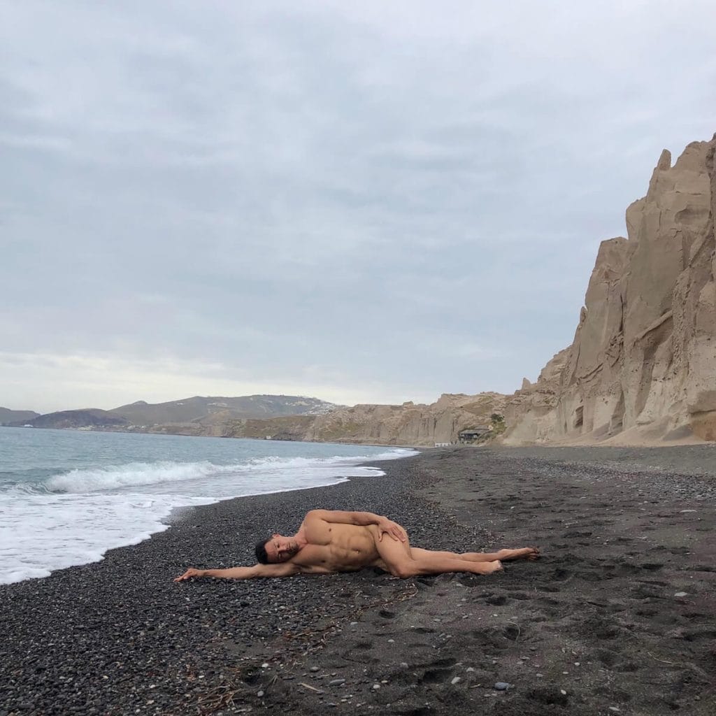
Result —
POLYGON ((316 417, 304 440, 377 445, 434 445, 455 442, 460 430, 488 425, 502 413, 505 396, 445 394, 431 405, 356 405, 316 417))

